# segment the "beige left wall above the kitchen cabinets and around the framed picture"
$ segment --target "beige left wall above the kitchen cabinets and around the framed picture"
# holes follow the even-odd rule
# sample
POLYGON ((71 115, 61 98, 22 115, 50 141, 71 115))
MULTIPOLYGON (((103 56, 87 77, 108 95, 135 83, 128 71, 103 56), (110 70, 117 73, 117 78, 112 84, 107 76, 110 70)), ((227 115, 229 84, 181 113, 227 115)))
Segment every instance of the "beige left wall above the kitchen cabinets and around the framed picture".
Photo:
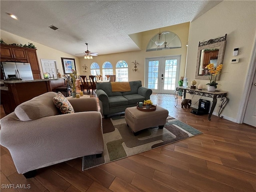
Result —
POLYGON ((40 59, 56 60, 57 61, 57 69, 59 70, 59 72, 61 74, 64 74, 63 73, 63 68, 62 68, 61 57, 64 57, 64 58, 74 58, 75 59, 75 63, 76 63, 76 70, 78 71, 78 73, 80 73, 79 58, 74 57, 74 56, 72 56, 70 54, 58 51, 56 49, 44 46, 44 45, 39 44, 37 42, 33 42, 33 41, 25 39, 23 37, 11 34, 9 32, 3 31, 3 30, 1 30, 0 32, 1 32, 0 38, 6 44, 16 43, 16 44, 24 45, 24 44, 32 43, 32 44, 34 44, 36 46, 36 49, 37 49, 36 54, 37 54, 37 57, 38 57, 38 62, 39 62, 39 66, 40 66, 40 71, 41 71, 41 76, 42 77, 43 77, 43 74, 42 74, 42 64, 41 64, 40 59))

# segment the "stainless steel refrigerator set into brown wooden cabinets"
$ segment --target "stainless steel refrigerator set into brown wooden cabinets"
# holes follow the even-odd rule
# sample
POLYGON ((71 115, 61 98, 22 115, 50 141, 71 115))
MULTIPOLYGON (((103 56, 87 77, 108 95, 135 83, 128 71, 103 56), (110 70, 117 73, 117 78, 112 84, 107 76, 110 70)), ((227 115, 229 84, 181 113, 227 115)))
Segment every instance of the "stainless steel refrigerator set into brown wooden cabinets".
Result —
POLYGON ((5 79, 34 80, 30 63, 2 62, 5 79))

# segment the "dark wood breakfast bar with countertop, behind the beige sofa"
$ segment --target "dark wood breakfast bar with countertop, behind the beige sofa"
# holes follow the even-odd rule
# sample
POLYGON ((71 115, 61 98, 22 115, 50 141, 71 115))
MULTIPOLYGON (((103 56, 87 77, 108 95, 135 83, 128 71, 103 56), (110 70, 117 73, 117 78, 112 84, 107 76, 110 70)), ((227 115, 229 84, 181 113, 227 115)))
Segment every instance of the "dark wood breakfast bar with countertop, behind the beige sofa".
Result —
POLYGON ((4 112, 10 114, 19 104, 62 85, 65 85, 62 78, 4 81, 4 86, 0 87, 4 112))

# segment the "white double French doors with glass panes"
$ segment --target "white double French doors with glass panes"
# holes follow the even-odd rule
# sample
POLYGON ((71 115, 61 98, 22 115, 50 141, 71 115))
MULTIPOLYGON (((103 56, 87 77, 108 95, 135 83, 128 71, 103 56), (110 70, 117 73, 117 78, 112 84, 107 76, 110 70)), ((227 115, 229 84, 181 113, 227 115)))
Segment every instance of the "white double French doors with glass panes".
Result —
POLYGON ((180 55, 146 58, 145 86, 154 93, 173 94, 178 86, 180 55))

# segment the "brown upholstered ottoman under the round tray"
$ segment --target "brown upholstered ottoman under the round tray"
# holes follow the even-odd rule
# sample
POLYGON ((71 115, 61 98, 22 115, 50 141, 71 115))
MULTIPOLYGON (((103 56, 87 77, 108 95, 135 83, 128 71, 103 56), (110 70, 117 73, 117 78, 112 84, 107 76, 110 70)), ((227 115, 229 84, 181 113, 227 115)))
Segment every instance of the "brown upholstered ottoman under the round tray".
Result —
POLYGON ((126 124, 133 131, 134 135, 138 134, 138 131, 158 126, 158 128, 164 128, 166 118, 168 117, 168 110, 156 106, 155 111, 140 111, 137 107, 128 107, 125 110, 124 118, 126 124))

